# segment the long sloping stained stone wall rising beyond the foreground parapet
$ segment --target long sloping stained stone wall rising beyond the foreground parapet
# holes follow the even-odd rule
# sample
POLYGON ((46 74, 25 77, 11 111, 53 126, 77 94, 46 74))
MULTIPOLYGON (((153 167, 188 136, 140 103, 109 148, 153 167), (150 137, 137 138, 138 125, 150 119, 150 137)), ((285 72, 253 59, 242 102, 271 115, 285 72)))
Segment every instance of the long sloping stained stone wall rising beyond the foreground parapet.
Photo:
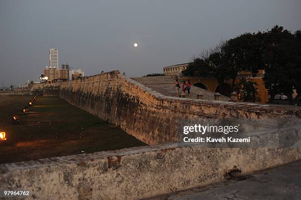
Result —
POLYGON ((60 85, 60 97, 148 143, 177 141, 179 118, 301 118, 301 108, 167 97, 112 71, 60 85))

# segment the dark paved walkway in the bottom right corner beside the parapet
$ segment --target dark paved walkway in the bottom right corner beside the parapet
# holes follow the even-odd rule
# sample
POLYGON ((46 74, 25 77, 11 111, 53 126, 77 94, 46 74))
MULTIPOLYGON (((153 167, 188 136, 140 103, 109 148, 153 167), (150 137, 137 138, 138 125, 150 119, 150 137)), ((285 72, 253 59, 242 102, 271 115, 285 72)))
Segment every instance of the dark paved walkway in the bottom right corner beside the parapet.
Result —
POLYGON ((301 200, 301 160, 246 176, 148 200, 301 200))

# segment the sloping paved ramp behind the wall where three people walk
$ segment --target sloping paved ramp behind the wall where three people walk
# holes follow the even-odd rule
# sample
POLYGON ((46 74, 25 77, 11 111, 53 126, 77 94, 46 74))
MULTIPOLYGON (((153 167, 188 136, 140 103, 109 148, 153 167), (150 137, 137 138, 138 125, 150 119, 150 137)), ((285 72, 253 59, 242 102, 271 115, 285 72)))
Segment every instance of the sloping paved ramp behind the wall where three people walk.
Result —
MULTIPOLYGON (((175 80, 172 77, 152 76, 152 77, 133 77, 131 79, 163 95, 173 96, 173 97, 177 96, 176 89, 175 89, 175 80)), ((180 93, 181 92, 182 92, 182 88, 180 89, 180 93)), ((204 94, 204 99, 214 100, 214 93, 209 90, 197 86, 191 86, 190 92, 191 92, 190 97, 188 97, 186 92, 186 98, 196 99, 197 94, 204 94)), ((229 101, 230 98, 222 95, 221 100, 229 101)))

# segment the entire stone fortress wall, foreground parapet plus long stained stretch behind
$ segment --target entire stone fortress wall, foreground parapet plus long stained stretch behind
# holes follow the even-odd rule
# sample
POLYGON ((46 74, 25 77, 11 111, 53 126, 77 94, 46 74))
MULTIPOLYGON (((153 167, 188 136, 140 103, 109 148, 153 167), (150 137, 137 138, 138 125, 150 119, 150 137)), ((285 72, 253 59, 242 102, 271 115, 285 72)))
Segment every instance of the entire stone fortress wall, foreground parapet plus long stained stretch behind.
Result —
MULTIPOLYGON (((0 165, 1 190, 30 199, 135 200, 207 185, 301 159, 301 148, 204 148, 177 140, 180 117, 301 118, 301 109, 167 97, 112 71, 62 83, 60 97, 151 146, 0 165)), ((294 136, 301 138, 301 133, 294 136)), ((273 133, 261 133, 273 138, 273 133)), ((270 140, 273 141, 273 140, 270 140)))

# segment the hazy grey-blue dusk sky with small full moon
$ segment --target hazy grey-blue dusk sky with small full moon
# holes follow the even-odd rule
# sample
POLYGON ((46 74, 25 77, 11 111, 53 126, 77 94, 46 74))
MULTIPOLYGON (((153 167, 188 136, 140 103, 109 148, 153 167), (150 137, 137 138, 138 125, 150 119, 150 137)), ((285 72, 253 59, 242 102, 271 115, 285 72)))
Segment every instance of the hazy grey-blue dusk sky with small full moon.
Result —
POLYGON ((301 0, 0 0, 0 84, 37 81, 49 48, 86 76, 162 72, 221 38, 274 25, 295 32, 300 8, 301 0))

